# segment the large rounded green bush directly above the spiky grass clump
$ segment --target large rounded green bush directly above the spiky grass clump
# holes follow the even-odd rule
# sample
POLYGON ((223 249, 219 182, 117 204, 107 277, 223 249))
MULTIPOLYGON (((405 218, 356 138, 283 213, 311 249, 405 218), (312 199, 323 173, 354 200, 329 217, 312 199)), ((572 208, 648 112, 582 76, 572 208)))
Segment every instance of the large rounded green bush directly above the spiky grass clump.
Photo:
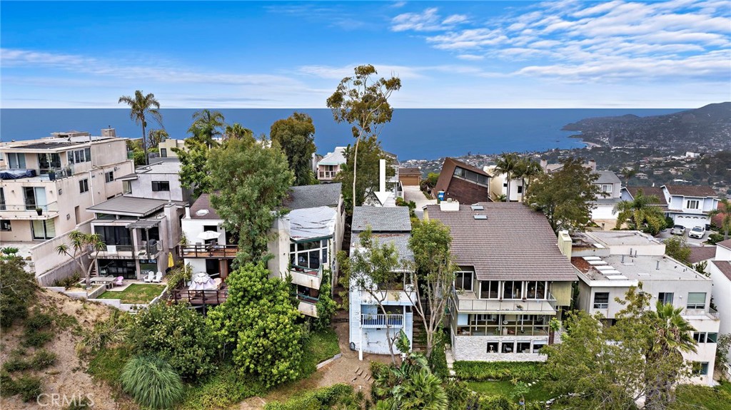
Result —
POLYGON ((137 352, 167 360, 183 377, 213 370, 216 345, 205 318, 183 303, 156 303, 135 315, 129 342, 137 352))

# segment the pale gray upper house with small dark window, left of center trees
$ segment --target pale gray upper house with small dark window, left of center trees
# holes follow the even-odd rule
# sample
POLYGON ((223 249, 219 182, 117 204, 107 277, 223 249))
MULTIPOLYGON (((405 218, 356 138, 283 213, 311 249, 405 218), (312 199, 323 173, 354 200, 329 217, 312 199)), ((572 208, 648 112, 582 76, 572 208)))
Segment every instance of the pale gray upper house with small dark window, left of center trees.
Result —
POLYGON ((140 166, 134 173, 117 179, 129 196, 190 202, 193 191, 181 186, 180 170, 180 162, 163 161, 140 166))

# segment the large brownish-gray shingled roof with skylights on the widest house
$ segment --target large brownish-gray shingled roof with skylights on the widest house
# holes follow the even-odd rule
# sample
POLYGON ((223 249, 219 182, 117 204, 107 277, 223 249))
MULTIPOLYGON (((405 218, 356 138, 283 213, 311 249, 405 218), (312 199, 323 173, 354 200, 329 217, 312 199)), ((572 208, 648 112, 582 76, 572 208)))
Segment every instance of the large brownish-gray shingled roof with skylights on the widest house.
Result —
POLYGON ((556 244, 546 217, 528 206, 508 202, 481 202, 483 210, 460 205, 442 212, 428 205, 430 219, 452 232, 452 253, 462 266, 474 266, 480 280, 576 280, 576 270, 556 244), (487 215, 475 220, 475 214, 487 215))

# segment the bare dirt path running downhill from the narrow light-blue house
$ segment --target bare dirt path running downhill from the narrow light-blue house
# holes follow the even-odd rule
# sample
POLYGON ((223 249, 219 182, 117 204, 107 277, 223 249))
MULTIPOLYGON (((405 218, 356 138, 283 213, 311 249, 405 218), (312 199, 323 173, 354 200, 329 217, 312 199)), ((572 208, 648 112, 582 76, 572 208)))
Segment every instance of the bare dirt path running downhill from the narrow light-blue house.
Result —
POLYGON ((368 376, 371 374, 371 361, 390 363, 390 357, 387 355, 366 354, 363 355, 363 361, 358 360, 358 352, 353 352, 349 347, 348 323, 336 323, 334 328, 338 334, 340 352, 342 354, 339 359, 333 360, 332 363, 320 368, 307 379, 300 380, 300 382, 297 382, 294 385, 281 387, 270 392, 263 398, 249 398, 241 403, 239 409, 263 409, 265 403, 270 401, 286 401, 289 398, 298 395, 300 392, 315 390, 320 387, 329 387, 338 383, 350 384, 353 386, 355 391, 360 390, 366 395, 370 395, 372 379, 368 379, 368 376), (358 375, 361 370, 363 370, 363 373, 358 375))

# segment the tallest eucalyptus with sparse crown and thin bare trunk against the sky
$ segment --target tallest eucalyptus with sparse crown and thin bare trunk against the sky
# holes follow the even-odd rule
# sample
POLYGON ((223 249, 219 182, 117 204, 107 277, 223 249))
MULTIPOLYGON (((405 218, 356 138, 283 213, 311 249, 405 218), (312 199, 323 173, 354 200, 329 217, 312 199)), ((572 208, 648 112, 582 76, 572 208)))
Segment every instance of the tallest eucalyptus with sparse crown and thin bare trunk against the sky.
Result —
POLYGON ((401 79, 398 77, 381 77, 376 80, 374 79, 376 75, 378 71, 371 64, 357 66, 355 75, 341 80, 335 93, 327 98, 327 107, 333 111, 336 122, 352 125, 352 136, 355 138, 352 166, 353 207, 356 198, 357 152, 360 139, 364 136, 378 136, 380 126, 390 122, 393 108, 388 98, 401 88, 401 79))

